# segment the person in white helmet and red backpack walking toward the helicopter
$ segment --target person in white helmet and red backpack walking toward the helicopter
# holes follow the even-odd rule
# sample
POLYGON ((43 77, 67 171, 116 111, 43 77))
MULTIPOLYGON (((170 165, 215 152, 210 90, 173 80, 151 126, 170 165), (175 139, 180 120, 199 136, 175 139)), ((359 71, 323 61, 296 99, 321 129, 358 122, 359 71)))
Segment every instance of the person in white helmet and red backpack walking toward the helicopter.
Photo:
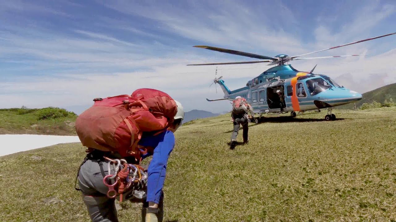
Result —
POLYGON ((241 124, 243 130, 242 137, 244 139, 244 143, 249 142, 249 138, 248 138, 249 114, 253 119, 254 118, 253 107, 251 107, 251 105, 246 102, 245 98, 237 96, 235 100, 232 101, 231 120, 234 124, 234 131, 231 134, 230 149, 235 148, 236 137, 238 136, 238 132, 241 124))

